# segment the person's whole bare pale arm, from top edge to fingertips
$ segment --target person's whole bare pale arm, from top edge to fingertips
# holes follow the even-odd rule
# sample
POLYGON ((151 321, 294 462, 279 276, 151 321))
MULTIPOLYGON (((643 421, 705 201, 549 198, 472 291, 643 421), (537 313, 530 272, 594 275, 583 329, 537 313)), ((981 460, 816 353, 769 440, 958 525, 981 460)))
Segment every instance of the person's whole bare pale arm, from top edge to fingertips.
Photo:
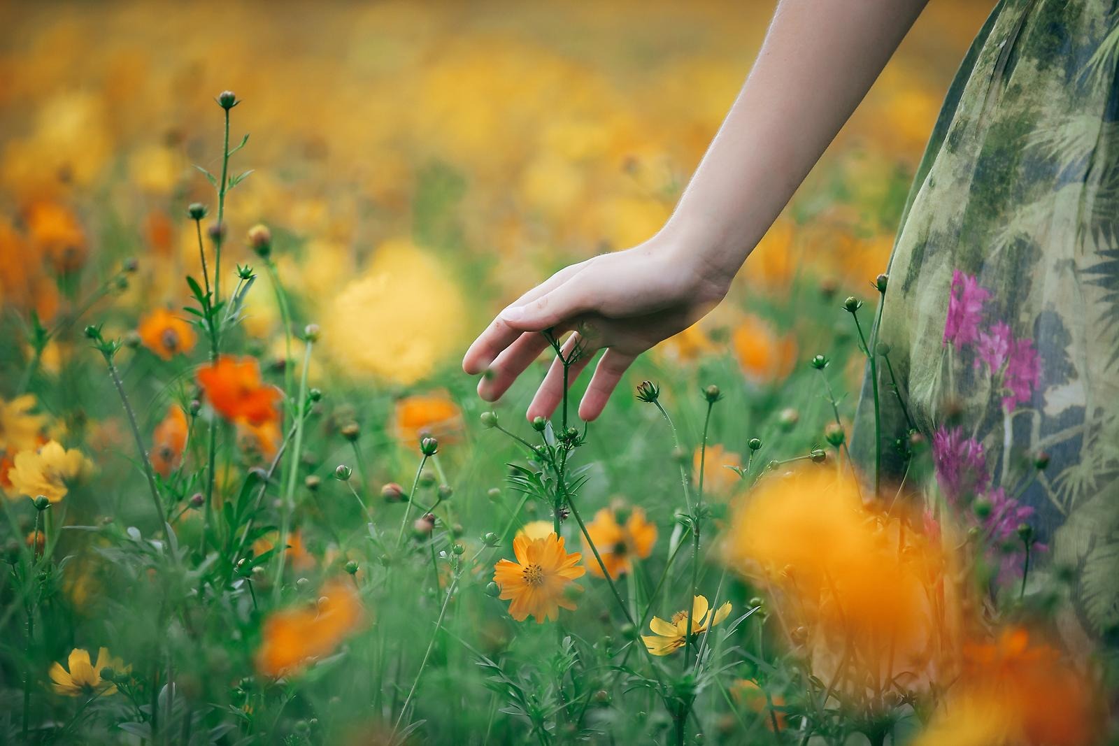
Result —
MULTIPOLYGON (((599 358, 579 416, 602 414, 639 355, 711 312, 750 252, 866 95, 927 0, 781 0, 758 58, 673 216, 657 235, 561 270, 518 298, 462 359, 495 402, 558 336, 599 358)), ((563 398, 553 361, 527 416, 563 398)))

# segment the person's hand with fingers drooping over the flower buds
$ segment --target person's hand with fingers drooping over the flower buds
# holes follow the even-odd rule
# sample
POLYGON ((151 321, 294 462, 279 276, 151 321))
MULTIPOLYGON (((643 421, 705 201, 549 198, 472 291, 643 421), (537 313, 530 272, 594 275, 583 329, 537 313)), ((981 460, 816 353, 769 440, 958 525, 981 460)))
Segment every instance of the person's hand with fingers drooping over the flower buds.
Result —
MULTIPOLYGON (((633 248, 603 254, 561 270, 501 311, 479 334, 462 359, 462 369, 490 375, 478 384, 478 395, 497 400, 549 342, 551 329, 564 341, 564 356, 582 344, 568 371, 568 385, 600 349, 579 416, 602 414, 610 394, 633 360, 661 340, 680 332, 713 309, 730 287, 731 277, 709 276, 681 255, 677 246, 653 238, 633 248)), ((553 360, 527 416, 548 417, 563 399, 563 365, 553 360)))

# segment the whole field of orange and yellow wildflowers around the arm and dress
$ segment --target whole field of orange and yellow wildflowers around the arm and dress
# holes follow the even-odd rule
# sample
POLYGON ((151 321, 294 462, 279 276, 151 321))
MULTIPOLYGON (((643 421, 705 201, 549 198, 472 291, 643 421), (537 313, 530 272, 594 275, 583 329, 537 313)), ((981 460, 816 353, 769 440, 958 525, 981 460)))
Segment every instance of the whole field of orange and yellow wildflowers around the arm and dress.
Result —
POLYGON ((965 431, 848 453, 981 4, 593 423, 462 355, 658 230, 771 3, 0 4, 0 743, 1111 743, 965 431))

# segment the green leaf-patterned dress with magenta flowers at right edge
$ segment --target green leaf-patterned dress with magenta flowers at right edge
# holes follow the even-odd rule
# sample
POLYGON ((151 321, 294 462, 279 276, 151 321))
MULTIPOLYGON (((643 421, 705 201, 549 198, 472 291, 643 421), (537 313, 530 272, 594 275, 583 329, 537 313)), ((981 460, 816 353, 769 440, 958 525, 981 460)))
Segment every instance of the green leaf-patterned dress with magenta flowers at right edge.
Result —
MULTIPOLYGON (((916 173, 878 339, 883 483, 939 492, 1042 575, 1062 633, 1119 640, 1119 0, 1002 0, 916 173), (981 501, 975 510, 972 501, 981 501), (1014 547, 1017 546, 1017 550, 1014 547)), ((869 372, 853 446, 875 462, 869 372)))

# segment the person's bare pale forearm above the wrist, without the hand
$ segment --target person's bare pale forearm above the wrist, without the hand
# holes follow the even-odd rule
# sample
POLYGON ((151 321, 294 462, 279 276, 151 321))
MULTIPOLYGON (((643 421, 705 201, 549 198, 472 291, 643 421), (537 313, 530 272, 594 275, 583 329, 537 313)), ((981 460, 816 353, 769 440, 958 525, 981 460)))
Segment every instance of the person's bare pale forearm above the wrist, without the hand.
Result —
POLYGON ((714 282, 737 272, 927 0, 781 0, 723 126, 661 232, 714 282))

